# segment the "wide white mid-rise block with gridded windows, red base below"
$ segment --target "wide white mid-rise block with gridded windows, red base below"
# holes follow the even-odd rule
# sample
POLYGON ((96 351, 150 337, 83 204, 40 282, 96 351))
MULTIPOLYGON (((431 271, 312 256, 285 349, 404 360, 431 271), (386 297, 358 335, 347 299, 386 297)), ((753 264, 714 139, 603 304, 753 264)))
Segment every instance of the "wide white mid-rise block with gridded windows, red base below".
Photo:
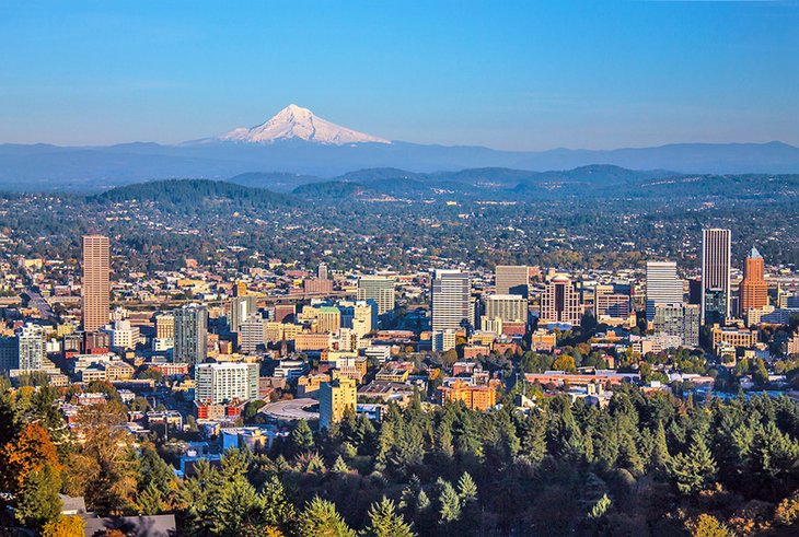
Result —
POLYGON ((217 405, 258 398, 257 363, 201 363, 195 371, 197 401, 217 405))

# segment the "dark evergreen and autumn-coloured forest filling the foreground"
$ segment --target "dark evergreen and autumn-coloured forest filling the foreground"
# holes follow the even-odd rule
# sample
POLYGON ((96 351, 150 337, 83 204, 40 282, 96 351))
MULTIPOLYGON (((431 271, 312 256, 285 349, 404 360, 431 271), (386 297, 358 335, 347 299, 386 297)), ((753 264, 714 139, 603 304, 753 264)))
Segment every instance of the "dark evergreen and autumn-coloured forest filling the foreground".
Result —
MULTIPOLYGON (((67 536, 58 493, 99 514, 174 513, 187 536, 796 535, 799 406, 694 404, 633 386, 606 408, 543 398, 522 413, 391 406, 267 453, 175 477, 180 440, 135 442, 119 401, 67 428, 49 387, 0 399, 7 535, 67 536)), ((506 401, 508 402, 507 398, 506 401)))

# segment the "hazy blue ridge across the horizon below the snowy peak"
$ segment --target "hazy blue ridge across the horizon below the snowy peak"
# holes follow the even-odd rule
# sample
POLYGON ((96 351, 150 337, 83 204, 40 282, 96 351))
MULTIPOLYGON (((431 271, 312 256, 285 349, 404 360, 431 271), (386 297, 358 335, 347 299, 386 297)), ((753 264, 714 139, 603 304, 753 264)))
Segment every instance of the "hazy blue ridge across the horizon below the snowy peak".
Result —
MULTIPOLYGON (((780 142, 682 143, 610 151, 521 152, 399 141, 324 144, 297 137, 270 143, 211 140, 181 145, 126 143, 93 148, 4 144, 0 145, 0 189, 102 191, 170 177, 239 176, 235 182, 247 186, 290 190, 312 182, 309 176, 325 180, 418 180, 419 174, 429 179, 439 173, 462 174, 460 171, 468 170, 465 180, 472 180, 479 179, 482 174, 496 179, 497 171, 513 170, 521 180, 522 172, 591 165, 671 170, 676 174, 790 174, 799 173, 799 148, 780 142)), ((464 179, 458 175, 451 178, 464 179)))

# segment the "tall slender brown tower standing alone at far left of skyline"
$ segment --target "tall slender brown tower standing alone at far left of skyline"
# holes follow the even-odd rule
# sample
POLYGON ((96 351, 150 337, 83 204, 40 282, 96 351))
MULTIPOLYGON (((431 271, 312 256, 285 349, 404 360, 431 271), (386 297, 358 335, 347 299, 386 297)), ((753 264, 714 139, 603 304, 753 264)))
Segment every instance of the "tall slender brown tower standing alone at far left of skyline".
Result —
POLYGON ((97 331, 108 324, 111 285, 108 283, 108 237, 83 237, 83 330, 97 331))

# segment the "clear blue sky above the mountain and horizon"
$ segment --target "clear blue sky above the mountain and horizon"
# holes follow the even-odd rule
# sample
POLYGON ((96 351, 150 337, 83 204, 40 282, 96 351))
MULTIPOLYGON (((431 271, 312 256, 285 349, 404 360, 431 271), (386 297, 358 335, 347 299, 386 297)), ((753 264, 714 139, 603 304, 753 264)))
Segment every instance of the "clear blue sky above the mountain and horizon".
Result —
POLYGON ((290 103, 418 143, 799 145, 799 1, 0 0, 0 143, 176 143, 290 103))

